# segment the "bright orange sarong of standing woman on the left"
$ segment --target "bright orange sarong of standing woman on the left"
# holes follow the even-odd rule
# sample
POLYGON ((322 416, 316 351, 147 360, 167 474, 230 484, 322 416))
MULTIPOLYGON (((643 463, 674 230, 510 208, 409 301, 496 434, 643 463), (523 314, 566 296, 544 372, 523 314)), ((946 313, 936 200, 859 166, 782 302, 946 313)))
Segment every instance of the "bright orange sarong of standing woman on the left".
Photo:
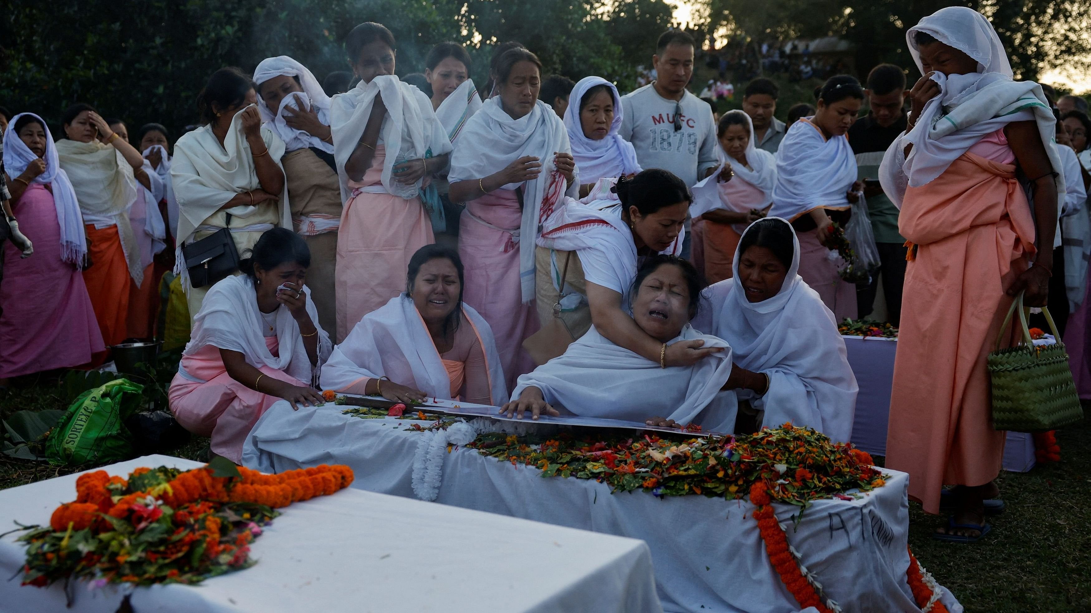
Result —
POLYGON ((88 224, 84 228, 91 238, 87 255, 91 256, 92 265, 83 271, 83 282, 87 286, 103 341, 109 347, 124 341, 129 334, 127 319, 132 278, 129 277, 129 265, 125 263, 125 254, 121 249, 118 226, 95 230, 94 225, 88 224))

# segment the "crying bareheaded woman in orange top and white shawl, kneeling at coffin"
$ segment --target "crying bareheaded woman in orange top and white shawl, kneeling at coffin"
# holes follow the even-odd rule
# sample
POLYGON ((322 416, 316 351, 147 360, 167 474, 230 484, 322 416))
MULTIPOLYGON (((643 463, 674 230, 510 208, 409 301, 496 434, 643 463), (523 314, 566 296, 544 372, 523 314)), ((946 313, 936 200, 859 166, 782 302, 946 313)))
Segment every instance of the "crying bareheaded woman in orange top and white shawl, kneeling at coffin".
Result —
POLYGON ((463 303, 458 253, 425 245, 409 259, 406 293, 363 316, 322 368, 322 383, 398 402, 506 400, 492 329, 463 303))

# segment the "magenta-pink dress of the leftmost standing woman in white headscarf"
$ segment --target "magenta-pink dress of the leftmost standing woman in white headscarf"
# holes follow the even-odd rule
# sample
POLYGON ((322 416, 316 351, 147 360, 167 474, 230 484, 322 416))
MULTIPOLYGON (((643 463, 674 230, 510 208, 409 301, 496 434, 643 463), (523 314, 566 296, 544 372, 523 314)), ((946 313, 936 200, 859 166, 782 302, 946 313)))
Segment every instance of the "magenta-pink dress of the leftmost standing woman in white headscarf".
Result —
POLYGON ((61 260, 53 195, 32 183, 13 209, 34 255, 22 259, 11 241, 3 244, 0 379, 87 364, 106 347, 83 274, 61 260))

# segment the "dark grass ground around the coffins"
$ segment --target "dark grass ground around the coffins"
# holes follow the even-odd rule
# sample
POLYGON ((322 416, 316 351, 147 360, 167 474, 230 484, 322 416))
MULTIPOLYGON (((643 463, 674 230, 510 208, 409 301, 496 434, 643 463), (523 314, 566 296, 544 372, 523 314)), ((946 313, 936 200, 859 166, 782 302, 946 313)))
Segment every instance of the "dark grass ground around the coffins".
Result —
MULTIPOLYGON (((0 392, 0 418, 22 409, 67 408, 55 377, 16 380, 0 392)), ((1086 406, 1091 409, 1091 405, 1086 406)), ((1007 511, 991 519, 981 543, 959 545, 931 538, 945 518, 910 505, 909 542, 968 613, 1091 611, 1091 422, 1057 433, 1062 461, 1030 473, 1003 473, 1007 511)), ((171 455, 206 461, 208 440, 193 438, 171 455)), ((75 473, 0 454, 0 489, 75 473)))

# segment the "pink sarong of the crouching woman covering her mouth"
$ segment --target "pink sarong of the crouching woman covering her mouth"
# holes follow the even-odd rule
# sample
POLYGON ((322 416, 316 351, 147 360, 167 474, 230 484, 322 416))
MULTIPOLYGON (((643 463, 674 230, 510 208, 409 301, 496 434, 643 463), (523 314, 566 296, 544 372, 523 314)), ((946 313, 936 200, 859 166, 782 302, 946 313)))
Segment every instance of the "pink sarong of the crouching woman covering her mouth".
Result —
MULTIPOLYGON (((266 336, 265 345, 277 355, 276 336, 266 336)), ((267 366, 259 370, 266 378, 307 387, 280 370, 267 366)), ((232 379, 224 368, 219 348, 214 345, 205 345, 195 355, 182 357, 168 394, 170 412, 182 428, 199 437, 212 437, 212 451, 236 464, 242 461, 242 443, 250 429, 278 400, 232 379), (183 376, 182 370, 189 377, 183 376)))

